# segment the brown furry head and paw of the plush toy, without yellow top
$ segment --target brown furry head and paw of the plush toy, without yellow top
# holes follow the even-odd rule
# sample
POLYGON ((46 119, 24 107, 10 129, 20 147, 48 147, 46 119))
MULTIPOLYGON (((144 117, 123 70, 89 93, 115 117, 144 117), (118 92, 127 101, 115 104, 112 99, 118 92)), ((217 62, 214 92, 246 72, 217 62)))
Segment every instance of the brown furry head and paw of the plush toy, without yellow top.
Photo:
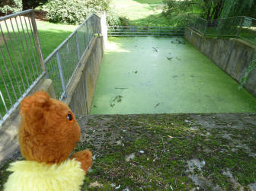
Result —
MULTIPOLYGON (((38 91, 21 101, 20 114, 19 142, 24 158, 54 164, 69 157, 81 134, 75 116, 65 103, 38 91), (72 121, 67 119, 68 113, 72 114, 72 121)), ((73 158, 81 162, 87 173, 91 151, 80 151, 73 158)))

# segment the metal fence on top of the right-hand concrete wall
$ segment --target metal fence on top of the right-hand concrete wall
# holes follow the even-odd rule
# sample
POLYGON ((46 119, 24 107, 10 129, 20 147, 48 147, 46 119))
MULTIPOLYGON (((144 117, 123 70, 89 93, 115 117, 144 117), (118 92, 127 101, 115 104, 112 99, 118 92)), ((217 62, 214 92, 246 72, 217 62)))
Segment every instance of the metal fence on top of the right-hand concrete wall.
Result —
POLYGON ((206 37, 237 37, 256 44, 256 19, 245 16, 207 21, 189 14, 187 26, 206 37))

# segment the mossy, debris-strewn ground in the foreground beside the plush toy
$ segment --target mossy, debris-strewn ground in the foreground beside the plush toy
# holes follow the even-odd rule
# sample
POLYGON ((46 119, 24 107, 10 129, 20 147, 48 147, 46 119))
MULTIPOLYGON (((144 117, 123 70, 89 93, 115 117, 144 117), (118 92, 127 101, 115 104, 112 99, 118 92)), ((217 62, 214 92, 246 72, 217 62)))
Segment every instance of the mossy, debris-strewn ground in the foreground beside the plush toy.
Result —
MULTIPOLYGON (((82 190, 255 190, 255 122, 242 113, 80 117, 75 151, 94 154, 82 190)), ((17 159, 0 167, 0 190, 17 159)))

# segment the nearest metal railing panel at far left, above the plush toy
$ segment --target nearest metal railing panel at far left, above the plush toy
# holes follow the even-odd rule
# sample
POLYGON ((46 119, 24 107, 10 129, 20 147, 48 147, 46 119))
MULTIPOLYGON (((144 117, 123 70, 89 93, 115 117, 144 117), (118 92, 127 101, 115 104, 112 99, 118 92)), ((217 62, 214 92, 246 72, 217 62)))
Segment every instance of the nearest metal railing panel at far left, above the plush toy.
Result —
POLYGON ((0 18, 0 125, 46 73, 32 10, 0 18))

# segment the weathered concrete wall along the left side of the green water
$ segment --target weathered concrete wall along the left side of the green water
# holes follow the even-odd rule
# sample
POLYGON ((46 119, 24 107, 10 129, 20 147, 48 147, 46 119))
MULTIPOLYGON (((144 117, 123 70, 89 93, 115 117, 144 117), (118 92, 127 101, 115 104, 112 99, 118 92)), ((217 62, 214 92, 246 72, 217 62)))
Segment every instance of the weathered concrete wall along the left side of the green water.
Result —
POLYGON ((101 59, 104 53, 104 37, 94 37, 87 53, 67 88, 67 98, 62 101, 69 105, 75 116, 89 114, 97 83, 101 59))

